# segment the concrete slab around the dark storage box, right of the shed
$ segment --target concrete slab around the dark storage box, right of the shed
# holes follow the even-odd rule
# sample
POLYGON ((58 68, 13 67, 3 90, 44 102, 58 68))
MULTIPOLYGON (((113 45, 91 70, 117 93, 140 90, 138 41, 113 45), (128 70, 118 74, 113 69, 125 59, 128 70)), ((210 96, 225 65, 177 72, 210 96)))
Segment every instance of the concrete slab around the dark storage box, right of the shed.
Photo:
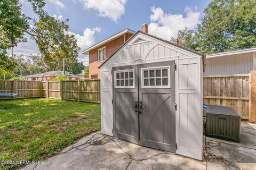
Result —
POLYGON ((256 126, 242 122, 241 127, 240 142, 206 137, 206 152, 233 168, 256 169, 256 126))

